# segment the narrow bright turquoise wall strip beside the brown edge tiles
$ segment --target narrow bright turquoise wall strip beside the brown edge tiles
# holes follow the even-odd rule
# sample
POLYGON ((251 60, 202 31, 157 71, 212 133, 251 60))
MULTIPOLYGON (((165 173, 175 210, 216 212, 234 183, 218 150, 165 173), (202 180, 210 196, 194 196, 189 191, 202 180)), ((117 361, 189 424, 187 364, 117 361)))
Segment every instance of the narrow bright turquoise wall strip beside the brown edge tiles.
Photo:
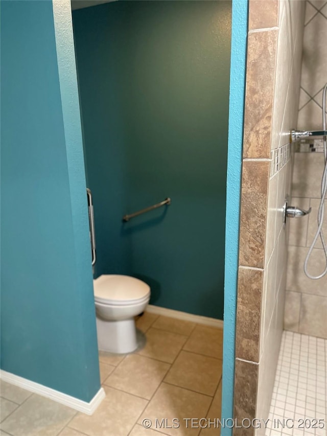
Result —
MULTIPOLYGON (((221 417, 225 420, 233 417, 247 24, 247 0, 233 2, 229 90, 224 343, 221 406, 221 417)), ((232 428, 227 428, 226 426, 221 429, 221 436, 232 436, 232 432, 232 428)))

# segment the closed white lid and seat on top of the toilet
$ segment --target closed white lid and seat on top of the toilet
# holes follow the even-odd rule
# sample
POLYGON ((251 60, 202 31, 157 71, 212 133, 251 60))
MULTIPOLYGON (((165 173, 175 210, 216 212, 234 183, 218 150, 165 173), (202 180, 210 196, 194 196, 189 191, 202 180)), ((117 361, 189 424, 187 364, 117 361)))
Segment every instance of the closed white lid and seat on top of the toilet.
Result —
POLYGON ((130 276, 104 274, 93 281, 94 295, 106 300, 136 300, 149 294, 150 286, 130 276))

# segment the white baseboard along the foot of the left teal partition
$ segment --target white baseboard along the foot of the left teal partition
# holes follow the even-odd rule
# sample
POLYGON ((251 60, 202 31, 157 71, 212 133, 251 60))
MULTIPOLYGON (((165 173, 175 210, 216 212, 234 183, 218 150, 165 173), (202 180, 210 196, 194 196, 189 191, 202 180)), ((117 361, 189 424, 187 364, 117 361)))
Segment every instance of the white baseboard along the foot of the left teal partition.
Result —
POLYGON ((8 373, 7 371, 1 370, 0 378, 8 383, 14 384, 15 386, 22 387, 27 391, 34 392, 42 397, 50 398, 51 400, 57 401, 60 404, 64 404, 72 409, 83 412, 86 415, 92 415, 106 396, 103 387, 101 387, 91 401, 87 403, 86 401, 79 400, 78 398, 56 391, 51 387, 44 386, 43 384, 36 383, 35 381, 28 380, 27 378, 16 376, 15 374, 8 373))

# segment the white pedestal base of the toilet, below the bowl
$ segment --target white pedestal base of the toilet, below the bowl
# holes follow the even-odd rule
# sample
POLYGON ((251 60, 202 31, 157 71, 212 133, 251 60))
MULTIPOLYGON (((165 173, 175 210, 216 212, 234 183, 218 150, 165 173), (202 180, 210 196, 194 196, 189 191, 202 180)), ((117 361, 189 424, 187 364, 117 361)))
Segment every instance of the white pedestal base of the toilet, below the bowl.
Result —
POLYGON ((131 353, 137 348, 134 318, 107 321, 97 316, 98 348, 107 353, 131 353))

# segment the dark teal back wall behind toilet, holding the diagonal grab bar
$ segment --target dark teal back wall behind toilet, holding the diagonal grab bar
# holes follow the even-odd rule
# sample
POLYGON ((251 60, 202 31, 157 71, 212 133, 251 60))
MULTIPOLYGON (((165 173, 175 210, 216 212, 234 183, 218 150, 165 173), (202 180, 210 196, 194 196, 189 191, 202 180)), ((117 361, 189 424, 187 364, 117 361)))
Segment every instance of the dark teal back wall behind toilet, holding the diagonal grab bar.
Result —
POLYGON ((96 275, 222 318, 231 2, 114 2, 73 23, 96 275))

